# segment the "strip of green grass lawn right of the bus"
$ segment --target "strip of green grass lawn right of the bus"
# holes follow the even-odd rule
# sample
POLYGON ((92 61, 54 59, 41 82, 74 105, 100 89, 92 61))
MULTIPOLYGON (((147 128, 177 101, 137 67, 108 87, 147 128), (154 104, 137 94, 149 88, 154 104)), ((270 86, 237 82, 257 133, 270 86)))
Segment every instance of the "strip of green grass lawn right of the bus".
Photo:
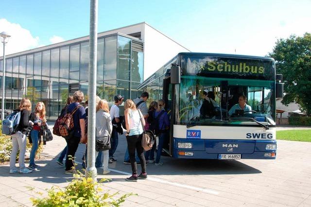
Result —
POLYGON ((277 140, 311 142, 311 129, 294 129, 276 131, 277 140))

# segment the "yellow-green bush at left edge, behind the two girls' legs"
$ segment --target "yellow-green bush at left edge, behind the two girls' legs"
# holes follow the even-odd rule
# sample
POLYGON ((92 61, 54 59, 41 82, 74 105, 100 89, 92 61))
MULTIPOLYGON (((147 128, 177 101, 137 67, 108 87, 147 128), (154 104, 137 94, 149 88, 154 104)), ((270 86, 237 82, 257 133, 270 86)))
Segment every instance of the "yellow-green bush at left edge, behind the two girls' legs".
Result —
MULTIPOLYGON (((2 134, 2 125, 0 125, 0 163, 1 162, 6 162, 6 161, 10 161, 10 155, 12 152, 12 141, 11 141, 11 137, 2 134)), ((27 138, 27 145, 26 145, 26 151, 30 152, 32 147, 32 144, 29 143, 29 140, 27 138)), ((35 153, 35 157, 36 158, 40 158, 40 155, 43 151, 43 145, 39 145, 38 146, 38 150, 35 153)), ((19 150, 17 151, 17 158, 18 159, 19 156, 19 150)))

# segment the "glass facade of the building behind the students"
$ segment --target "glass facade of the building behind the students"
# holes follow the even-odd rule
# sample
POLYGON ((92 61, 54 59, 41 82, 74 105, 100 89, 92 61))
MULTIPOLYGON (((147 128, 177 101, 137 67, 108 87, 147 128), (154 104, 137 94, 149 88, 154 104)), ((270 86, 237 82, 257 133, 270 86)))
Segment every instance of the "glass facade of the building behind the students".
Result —
MULTIPOLYGON (((17 54, 6 58, 6 112, 16 109, 21 98, 28 97, 33 109, 38 101, 42 101, 46 106, 47 119, 55 120, 67 97, 75 91, 83 91, 87 100, 88 40, 64 42, 61 46, 17 54)), ((137 86, 143 81, 143 55, 143 42, 137 38, 120 33, 99 37, 97 95, 109 104, 113 104, 116 94, 125 96, 125 99, 139 96, 137 86)), ((3 60, 0 60, 1 87, 2 76, 3 60)))

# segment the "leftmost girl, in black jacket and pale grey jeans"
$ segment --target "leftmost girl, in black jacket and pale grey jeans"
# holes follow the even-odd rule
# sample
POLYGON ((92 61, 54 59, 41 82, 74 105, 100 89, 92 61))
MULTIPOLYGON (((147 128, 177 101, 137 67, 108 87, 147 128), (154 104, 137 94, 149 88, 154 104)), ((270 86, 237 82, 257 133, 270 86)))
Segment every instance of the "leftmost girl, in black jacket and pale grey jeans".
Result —
POLYGON ((29 120, 29 114, 31 111, 30 100, 28 98, 22 98, 17 110, 20 111, 20 120, 17 127, 17 132, 11 135, 12 152, 10 156, 10 173, 31 173, 33 171, 25 167, 25 152, 27 143, 26 135, 29 132, 29 128, 34 125, 34 123, 29 120), (18 149, 19 171, 16 168, 16 156, 18 149))

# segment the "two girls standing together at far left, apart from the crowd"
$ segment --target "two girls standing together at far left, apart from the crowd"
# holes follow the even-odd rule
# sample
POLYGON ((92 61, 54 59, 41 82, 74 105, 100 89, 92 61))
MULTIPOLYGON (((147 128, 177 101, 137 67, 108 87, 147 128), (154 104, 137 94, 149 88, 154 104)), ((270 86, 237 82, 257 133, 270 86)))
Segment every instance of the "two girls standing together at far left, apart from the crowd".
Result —
POLYGON ((20 121, 17 126, 17 132, 11 135, 12 152, 10 156, 10 173, 32 173, 37 170, 39 165, 35 164, 35 153, 38 149, 41 126, 46 125, 46 110, 43 102, 38 102, 35 111, 31 113, 32 104, 28 98, 22 98, 18 108, 20 111, 20 121), (30 152, 29 166, 25 167, 25 153, 27 136, 31 135, 32 148, 30 152), (19 150, 19 170, 16 167, 17 152, 19 150))

